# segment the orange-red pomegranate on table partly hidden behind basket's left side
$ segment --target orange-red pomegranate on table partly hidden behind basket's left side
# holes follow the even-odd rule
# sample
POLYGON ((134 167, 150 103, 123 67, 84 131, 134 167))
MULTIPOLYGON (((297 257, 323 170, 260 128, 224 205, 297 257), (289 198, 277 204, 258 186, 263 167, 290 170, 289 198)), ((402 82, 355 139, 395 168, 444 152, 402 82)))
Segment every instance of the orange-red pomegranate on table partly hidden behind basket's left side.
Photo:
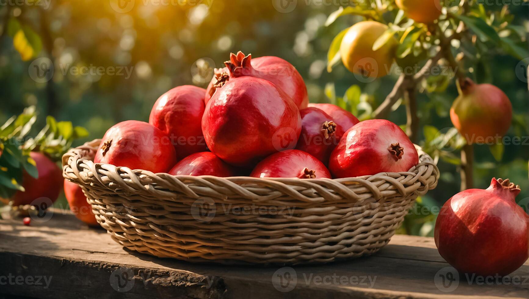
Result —
POLYGON ((92 206, 86 201, 83 189, 81 189, 76 183, 72 183, 67 179, 65 179, 64 188, 70 211, 74 213, 77 219, 90 226, 99 226, 96 216, 92 212, 92 206))

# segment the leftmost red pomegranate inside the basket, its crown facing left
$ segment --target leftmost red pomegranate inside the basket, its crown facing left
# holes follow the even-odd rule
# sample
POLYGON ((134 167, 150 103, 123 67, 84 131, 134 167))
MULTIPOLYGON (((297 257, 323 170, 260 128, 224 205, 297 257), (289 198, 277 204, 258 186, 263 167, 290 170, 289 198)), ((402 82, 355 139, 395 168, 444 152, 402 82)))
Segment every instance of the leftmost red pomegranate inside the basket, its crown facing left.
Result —
POLYGON ((166 173, 176 164, 166 133, 146 122, 124 121, 106 131, 94 162, 166 173))

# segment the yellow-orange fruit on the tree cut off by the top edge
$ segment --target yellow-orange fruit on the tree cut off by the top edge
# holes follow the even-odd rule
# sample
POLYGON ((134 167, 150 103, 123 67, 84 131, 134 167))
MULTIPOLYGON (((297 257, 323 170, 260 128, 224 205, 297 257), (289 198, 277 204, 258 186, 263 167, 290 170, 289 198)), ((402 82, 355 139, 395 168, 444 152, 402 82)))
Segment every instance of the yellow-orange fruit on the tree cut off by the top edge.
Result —
POLYGON ((407 17, 419 23, 431 24, 441 15, 440 0, 396 0, 395 3, 407 17))

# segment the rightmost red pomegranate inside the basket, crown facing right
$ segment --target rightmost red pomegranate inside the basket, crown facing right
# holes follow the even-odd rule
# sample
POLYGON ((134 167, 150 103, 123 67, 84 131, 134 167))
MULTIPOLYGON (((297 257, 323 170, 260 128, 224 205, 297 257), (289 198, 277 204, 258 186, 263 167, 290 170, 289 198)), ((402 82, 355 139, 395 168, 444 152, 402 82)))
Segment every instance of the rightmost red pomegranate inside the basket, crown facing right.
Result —
POLYGON ((367 120, 345 132, 331 153, 329 169, 334 178, 359 177, 408 171, 418 162, 414 144, 399 126, 367 120), (404 150, 400 159, 390 151, 397 143, 404 150))

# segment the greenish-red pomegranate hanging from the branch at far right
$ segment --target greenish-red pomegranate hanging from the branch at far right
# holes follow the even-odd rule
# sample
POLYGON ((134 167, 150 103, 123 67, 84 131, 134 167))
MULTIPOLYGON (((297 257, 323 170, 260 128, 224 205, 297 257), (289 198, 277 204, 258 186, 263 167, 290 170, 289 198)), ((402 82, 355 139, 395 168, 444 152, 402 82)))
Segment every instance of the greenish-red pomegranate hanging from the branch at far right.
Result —
POLYGON ((509 130, 513 106, 498 87, 475 84, 469 78, 459 83, 459 97, 450 109, 456 129, 473 143, 496 143, 509 130))

